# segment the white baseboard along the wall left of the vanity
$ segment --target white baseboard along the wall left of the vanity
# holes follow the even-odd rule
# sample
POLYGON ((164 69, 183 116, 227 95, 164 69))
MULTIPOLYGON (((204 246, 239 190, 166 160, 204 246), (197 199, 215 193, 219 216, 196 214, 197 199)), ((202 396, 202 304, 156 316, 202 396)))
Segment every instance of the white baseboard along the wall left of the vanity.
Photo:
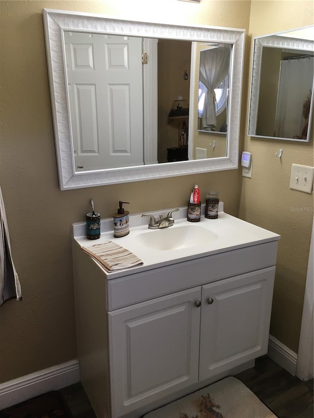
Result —
POLYGON ((78 360, 36 371, 0 384, 0 410, 34 396, 79 382, 78 360))

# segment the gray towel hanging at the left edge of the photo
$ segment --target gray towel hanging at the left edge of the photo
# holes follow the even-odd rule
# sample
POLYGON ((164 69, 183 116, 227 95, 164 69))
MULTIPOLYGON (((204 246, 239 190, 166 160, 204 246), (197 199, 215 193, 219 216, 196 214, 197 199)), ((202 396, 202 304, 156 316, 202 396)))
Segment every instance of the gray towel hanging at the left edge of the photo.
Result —
POLYGON ((0 188, 0 305, 5 301, 21 296, 21 286, 15 270, 9 239, 8 225, 0 188))

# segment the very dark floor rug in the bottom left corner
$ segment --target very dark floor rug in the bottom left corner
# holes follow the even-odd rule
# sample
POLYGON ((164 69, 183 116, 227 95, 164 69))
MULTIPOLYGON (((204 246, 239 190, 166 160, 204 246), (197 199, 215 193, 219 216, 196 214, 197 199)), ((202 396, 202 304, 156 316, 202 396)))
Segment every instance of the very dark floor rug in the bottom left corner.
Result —
POLYGON ((0 418, 73 418, 63 396, 44 393, 0 411, 0 418))

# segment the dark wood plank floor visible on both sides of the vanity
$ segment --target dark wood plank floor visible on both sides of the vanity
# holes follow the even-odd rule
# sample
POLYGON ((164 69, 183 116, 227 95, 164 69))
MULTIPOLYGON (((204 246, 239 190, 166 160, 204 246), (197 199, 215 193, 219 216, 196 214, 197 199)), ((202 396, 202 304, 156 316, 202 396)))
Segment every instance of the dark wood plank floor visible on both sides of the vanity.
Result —
MULTIPOLYGON (((279 418, 313 418, 313 379, 302 382, 269 357, 236 375, 279 418)), ((61 389, 75 418, 96 418, 81 384, 61 389)), ((255 418, 255 417, 252 417, 255 418)))

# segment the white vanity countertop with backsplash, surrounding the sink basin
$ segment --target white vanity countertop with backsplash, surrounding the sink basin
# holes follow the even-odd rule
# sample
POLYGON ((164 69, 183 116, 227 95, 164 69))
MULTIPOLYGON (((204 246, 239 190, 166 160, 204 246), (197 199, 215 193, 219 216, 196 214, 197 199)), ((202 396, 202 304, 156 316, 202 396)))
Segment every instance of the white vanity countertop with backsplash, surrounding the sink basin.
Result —
MULTIPOLYGON (((149 214, 153 214, 158 219, 159 214, 165 216, 169 210, 149 212, 149 214)), ((224 213, 222 202, 219 204, 218 219, 206 219, 204 216, 204 207, 202 207, 202 213, 200 222, 188 222, 186 221, 186 207, 180 208, 180 212, 174 212, 172 215, 175 219, 173 226, 156 230, 148 229, 149 218, 142 218, 142 214, 130 215, 130 234, 121 238, 114 238, 113 236, 113 219, 104 219, 101 222, 101 237, 95 241, 86 238, 86 223, 79 222, 73 224, 73 239, 79 246, 85 247, 101 244, 105 241, 112 241, 127 248, 143 261, 143 265, 141 266, 110 273, 95 261, 104 270, 108 279, 280 239, 280 235, 274 232, 224 213), (197 244, 196 246, 165 250, 156 250, 147 247, 136 238, 139 234, 147 232, 149 234, 164 234, 166 239, 166 230, 184 225, 191 225, 192 227, 193 225, 202 226, 211 231, 213 233, 211 236, 215 238, 212 240, 209 239, 208 241, 203 240, 201 244, 197 244)))

